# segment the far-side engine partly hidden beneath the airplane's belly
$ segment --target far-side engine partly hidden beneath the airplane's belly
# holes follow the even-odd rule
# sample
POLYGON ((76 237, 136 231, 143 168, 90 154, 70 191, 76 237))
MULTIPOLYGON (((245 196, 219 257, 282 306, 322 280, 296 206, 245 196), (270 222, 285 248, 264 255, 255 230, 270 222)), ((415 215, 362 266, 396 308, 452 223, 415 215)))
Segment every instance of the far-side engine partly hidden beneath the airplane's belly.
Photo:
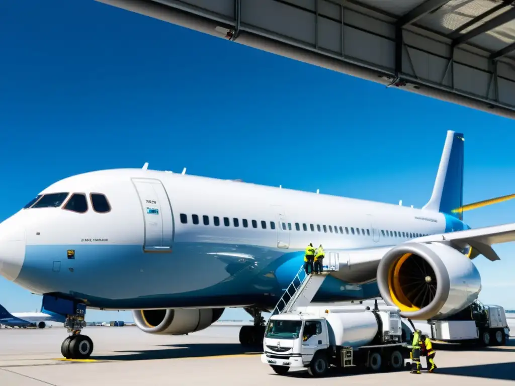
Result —
POLYGON ((203 330, 220 319, 225 308, 133 310, 136 326, 148 334, 184 335, 203 330))

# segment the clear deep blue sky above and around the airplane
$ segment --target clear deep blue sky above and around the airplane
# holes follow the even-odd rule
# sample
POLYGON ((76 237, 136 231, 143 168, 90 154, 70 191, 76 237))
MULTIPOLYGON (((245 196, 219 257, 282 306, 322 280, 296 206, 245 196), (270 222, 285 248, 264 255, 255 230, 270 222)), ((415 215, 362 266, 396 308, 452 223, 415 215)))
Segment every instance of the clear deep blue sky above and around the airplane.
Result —
MULTIPOLYGON (((450 129, 465 133, 466 203, 515 192, 512 120, 92 0, 1 8, 0 220, 59 179, 145 162, 421 207, 450 129)), ((514 213, 515 200, 465 220, 494 225, 513 222, 514 213)), ((474 260, 480 299, 515 308, 513 243, 495 250, 501 261, 474 260)), ((31 311, 41 297, 0 277, 0 303, 31 311)), ((87 319, 131 317, 89 311, 87 319)))

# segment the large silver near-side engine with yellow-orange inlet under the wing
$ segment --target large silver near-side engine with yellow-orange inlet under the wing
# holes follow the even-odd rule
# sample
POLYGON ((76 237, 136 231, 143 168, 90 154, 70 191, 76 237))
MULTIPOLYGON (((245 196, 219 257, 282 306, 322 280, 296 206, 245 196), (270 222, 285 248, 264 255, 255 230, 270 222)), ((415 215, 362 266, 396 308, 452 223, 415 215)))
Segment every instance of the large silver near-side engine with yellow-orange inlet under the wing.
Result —
POLYGON ((404 318, 444 319, 477 299, 481 277, 472 261, 449 245, 410 242, 384 255, 377 285, 404 318))

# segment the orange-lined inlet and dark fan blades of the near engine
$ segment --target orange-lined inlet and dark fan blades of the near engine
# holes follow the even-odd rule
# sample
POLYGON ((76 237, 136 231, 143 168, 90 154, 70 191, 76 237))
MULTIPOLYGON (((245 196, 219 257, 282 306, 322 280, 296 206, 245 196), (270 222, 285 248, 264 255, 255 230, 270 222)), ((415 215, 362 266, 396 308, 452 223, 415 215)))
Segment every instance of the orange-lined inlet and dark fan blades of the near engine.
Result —
POLYGON ((396 259, 388 271, 390 296, 401 311, 418 311, 436 295, 436 274, 422 257, 406 253, 396 259))

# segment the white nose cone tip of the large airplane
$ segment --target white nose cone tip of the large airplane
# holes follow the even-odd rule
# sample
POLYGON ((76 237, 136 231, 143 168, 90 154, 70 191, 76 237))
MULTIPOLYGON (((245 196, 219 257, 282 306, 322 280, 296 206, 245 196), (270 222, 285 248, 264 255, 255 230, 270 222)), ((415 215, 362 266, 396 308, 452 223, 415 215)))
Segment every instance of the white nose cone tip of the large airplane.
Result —
POLYGON ((4 221, 0 224, 0 275, 12 282, 20 274, 24 259, 24 227, 4 221))

